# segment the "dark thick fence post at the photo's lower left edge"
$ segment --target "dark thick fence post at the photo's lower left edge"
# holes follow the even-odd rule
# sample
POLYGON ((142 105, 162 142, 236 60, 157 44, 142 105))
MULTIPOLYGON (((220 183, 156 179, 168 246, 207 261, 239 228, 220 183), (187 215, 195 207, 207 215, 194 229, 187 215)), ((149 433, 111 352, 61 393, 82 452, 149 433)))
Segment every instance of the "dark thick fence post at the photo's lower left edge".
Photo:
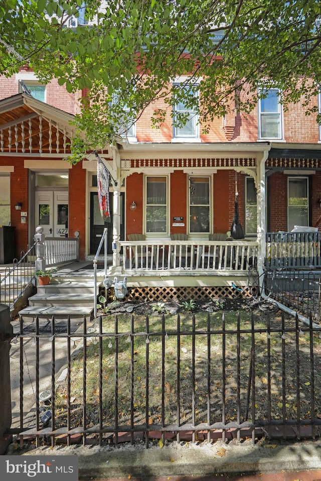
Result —
POLYGON ((0 454, 12 443, 12 434, 6 432, 12 422, 9 353, 13 337, 10 308, 0 304, 0 454))

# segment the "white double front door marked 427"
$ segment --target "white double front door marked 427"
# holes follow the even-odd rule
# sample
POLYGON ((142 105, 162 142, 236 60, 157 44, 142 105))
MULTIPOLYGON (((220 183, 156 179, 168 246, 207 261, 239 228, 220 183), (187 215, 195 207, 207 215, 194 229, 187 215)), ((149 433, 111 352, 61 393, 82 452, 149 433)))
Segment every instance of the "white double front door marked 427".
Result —
POLYGON ((35 219, 36 227, 41 225, 46 237, 66 237, 68 235, 68 191, 37 191, 35 219))

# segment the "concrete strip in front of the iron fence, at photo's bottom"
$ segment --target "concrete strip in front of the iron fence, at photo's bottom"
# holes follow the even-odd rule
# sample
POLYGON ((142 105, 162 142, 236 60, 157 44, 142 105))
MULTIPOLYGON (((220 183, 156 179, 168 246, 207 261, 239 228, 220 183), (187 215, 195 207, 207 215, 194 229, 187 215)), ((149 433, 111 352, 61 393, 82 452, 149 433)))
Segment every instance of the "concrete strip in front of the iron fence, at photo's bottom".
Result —
POLYGON ((7 454, 78 455, 81 480, 188 481, 193 477, 194 481, 210 481, 220 477, 230 481, 321 481, 320 440, 264 441, 255 445, 251 440, 233 440, 228 443, 206 441, 200 444, 172 442, 163 448, 155 444, 148 449, 144 443, 133 446, 120 444, 118 447, 55 446, 53 449, 48 446, 34 448, 34 445, 28 443, 21 449, 18 443, 14 443, 9 446, 7 454), (304 473, 307 470, 309 473, 304 473), (244 473, 251 474, 252 478, 244 475, 240 477, 244 473), (267 473, 267 477, 264 473, 267 473))

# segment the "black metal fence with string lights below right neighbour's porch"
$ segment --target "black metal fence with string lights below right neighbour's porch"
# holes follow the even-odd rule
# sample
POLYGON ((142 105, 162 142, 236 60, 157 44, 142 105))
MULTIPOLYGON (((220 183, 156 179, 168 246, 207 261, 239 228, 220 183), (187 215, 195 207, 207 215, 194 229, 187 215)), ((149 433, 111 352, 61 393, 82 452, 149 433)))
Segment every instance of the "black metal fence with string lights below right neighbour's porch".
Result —
POLYGON ((267 269, 265 287, 272 299, 305 317, 320 321, 321 272, 267 269))

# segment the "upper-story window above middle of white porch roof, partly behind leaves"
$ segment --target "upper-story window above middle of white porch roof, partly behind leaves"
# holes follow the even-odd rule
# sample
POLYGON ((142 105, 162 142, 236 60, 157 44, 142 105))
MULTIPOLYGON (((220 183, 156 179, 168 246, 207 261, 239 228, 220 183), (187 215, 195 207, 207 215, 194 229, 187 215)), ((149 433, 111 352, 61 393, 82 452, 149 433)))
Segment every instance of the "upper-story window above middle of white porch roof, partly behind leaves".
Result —
MULTIPOLYGON (((175 84, 180 85, 180 84, 175 84)), ((198 98, 198 93, 192 93, 189 85, 182 85, 182 89, 190 95, 198 98)), ((174 125, 173 138, 175 139, 197 139, 199 138, 198 115, 192 105, 188 105, 188 100, 180 101, 174 98, 174 125), (184 125, 180 125, 182 119, 187 119, 184 125)))

